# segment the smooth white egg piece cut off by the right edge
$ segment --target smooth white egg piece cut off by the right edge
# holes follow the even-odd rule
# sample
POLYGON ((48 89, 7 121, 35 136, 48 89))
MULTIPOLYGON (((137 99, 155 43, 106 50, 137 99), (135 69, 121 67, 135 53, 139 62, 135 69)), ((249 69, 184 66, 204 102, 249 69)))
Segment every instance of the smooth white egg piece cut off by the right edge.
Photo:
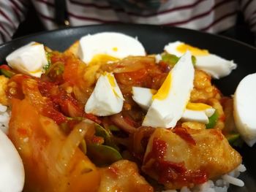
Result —
POLYGON ((252 147, 256 142, 256 73, 239 82, 234 94, 234 120, 244 141, 252 147))

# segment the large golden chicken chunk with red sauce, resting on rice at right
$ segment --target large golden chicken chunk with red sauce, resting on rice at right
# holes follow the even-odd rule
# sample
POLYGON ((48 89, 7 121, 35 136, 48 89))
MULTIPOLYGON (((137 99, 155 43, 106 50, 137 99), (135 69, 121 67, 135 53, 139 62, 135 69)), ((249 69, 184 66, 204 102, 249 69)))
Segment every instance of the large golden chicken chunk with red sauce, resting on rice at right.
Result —
POLYGON ((157 128, 149 139, 143 172, 167 189, 192 187, 235 169, 241 155, 217 129, 157 128))

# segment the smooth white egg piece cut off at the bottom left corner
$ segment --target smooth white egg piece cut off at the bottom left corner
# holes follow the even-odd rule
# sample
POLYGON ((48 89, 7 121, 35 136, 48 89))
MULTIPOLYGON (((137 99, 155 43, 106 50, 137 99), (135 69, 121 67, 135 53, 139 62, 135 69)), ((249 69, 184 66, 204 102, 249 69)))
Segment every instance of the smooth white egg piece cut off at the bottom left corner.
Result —
POLYGON ((25 173, 22 160, 11 140, 0 130, 0 191, 23 190, 25 173))

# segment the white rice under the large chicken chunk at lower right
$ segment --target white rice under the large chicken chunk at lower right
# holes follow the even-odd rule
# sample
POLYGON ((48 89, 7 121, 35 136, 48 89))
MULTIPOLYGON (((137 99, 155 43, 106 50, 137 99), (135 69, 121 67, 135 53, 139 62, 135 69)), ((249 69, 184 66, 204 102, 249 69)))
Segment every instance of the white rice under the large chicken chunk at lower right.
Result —
MULTIPOLYGON (((187 186, 184 186, 181 188, 179 192, 227 192, 227 188, 230 184, 236 185, 238 187, 243 187, 244 182, 242 180, 239 180, 237 177, 241 172, 245 172, 246 167, 241 164, 236 169, 234 169, 232 172, 229 172, 227 174, 222 175, 222 177, 219 180, 208 180, 206 183, 203 183, 201 185, 196 185, 194 188, 187 188, 187 186)), ((162 192, 178 192, 176 190, 166 190, 162 192)))

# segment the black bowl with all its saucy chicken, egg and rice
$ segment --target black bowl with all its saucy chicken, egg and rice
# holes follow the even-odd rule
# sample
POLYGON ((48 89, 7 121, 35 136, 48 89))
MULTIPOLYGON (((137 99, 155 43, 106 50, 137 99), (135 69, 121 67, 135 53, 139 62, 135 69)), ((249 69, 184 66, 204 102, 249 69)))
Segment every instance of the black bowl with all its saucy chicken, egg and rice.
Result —
POLYGON ((0 45, 0 191, 255 191, 255 55, 147 25, 0 45))

